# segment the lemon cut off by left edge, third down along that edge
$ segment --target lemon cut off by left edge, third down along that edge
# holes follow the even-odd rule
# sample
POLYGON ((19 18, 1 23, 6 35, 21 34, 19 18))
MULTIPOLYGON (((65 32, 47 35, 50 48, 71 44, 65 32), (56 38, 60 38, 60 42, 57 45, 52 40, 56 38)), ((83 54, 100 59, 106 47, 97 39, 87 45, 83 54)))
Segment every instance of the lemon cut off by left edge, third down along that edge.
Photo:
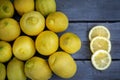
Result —
POLYGON ((0 62, 7 62, 12 57, 12 48, 10 43, 0 41, 0 62))

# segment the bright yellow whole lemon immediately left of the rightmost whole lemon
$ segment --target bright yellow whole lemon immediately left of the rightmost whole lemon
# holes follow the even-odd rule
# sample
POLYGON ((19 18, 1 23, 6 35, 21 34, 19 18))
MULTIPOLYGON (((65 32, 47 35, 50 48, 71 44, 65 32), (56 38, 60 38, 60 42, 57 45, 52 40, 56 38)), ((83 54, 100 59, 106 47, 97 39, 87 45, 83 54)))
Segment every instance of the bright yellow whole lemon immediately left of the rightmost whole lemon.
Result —
POLYGON ((37 36, 35 46, 40 54, 51 55, 58 49, 58 36, 52 31, 43 31, 37 36))

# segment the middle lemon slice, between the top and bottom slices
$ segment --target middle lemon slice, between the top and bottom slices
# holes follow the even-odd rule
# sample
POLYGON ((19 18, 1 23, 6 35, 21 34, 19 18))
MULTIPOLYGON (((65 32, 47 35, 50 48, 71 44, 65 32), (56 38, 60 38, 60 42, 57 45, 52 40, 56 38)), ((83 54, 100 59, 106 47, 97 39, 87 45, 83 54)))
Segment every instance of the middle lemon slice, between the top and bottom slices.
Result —
POLYGON ((110 40, 100 36, 93 38, 92 41, 90 42, 90 50, 92 51, 92 53, 101 49, 110 52, 111 50, 110 40))

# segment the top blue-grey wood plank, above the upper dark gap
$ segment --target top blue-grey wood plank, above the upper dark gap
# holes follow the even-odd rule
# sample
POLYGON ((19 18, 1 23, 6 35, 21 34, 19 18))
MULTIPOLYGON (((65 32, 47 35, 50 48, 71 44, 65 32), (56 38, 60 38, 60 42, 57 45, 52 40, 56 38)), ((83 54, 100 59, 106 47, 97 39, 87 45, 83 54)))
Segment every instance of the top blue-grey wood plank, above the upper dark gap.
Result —
POLYGON ((57 10, 66 13, 70 20, 120 20, 120 0, 56 0, 57 10))

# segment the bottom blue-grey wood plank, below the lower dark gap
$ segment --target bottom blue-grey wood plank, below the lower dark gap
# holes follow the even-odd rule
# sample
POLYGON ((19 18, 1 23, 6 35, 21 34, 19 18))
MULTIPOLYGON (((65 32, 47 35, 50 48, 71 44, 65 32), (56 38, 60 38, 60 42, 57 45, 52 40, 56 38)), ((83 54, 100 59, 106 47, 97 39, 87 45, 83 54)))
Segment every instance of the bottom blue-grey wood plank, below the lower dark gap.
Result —
POLYGON ((104 71, 96 70, 91 61, 76 61, 78 70, 70 79, 62 79, 53 75, 50 80, 120 80, 120 61, 112 61, 104 71))

